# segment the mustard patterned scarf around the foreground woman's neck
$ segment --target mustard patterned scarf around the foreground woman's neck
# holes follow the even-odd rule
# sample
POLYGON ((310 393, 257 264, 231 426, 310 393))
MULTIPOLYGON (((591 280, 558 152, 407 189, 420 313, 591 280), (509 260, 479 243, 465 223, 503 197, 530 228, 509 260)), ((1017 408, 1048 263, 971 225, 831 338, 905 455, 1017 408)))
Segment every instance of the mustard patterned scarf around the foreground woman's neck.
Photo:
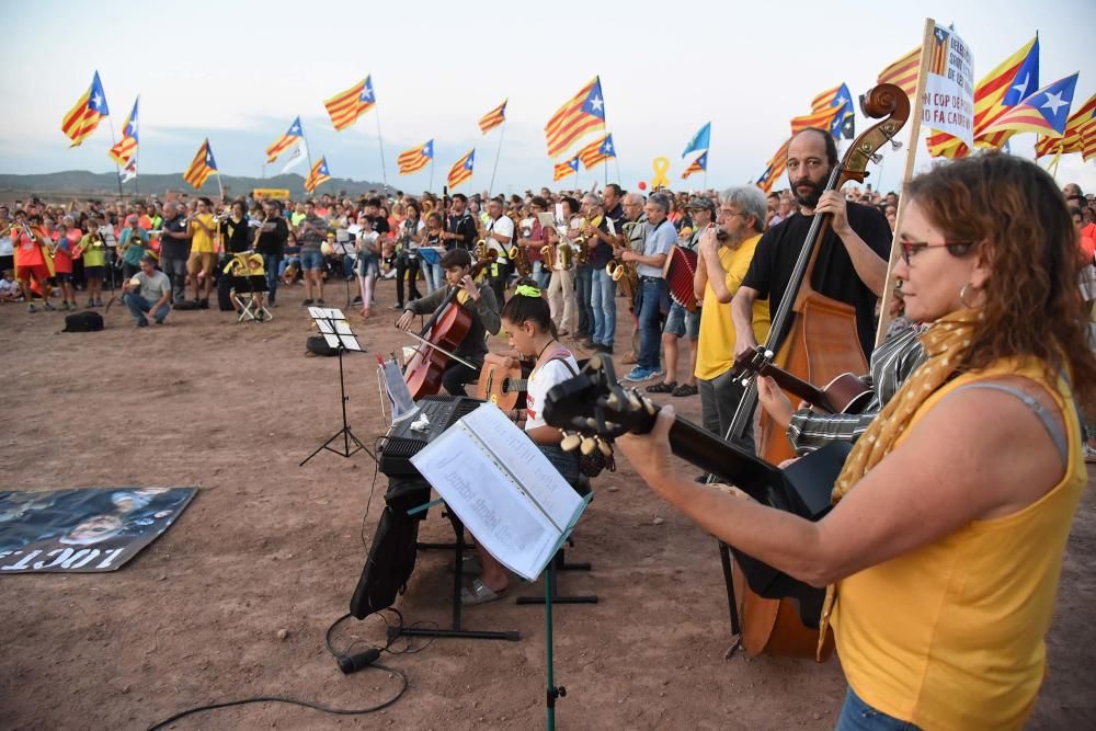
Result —
MULTIPOLYGON (((856 486, 883 457, 891 453, 898 441, 910 427, 913 416, 922 404, 944 386, 962 362, 970 347, 974 327, 981 319, 977 310, 963 309, 940 318, 921 335, 927 358, 913 376, 887 402, 882 411, 872 420, 868 430, 856 441, 856 446, 845 460, 845 467, 833 488, 832 500, 836 504, 856 486)), ((826 589, 825 604, 822 606, 822 621, 819 627, 819 661, 822 642, 830 627, 830 613, 836 598, 836 587, 826 589)))

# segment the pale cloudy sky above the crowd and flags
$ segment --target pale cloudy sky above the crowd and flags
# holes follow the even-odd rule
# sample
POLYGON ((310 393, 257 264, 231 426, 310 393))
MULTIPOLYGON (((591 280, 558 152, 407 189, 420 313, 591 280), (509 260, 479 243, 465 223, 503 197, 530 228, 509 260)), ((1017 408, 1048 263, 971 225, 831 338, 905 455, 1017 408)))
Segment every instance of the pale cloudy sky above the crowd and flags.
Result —
MULTIPOLYGON (((264 165, 264 150, 300 115, 313 159, 324 155, 336 178, 387 178, 406 191, 426 190, 430 168, 400 176, 396 158, 434 139, 433 190, 475 148, 475 178, 461 190, 487 190, 498 162, 492 193, 523 193, 556 186, 544 125, 598 75, 619 157, 607 171, 582 170, 576 181, 559 185, 601 186, 607 172, 610 182, 635 190, 653 176, 652 161, 664 157, 674 187, 699 187, 700 175, 681 180, 689 162, 681 153, 711 122, 707 185, 722 189, 764 171, 788 136, 788 121, 809 112, 815 94, 845 82, 855 98, 874 85, 880 70, 920 43, 926 16, 955 24, 973 50, 975 80, 1038 31, 1040 83, 1080 70, 1076 106, 1096 92, 1092 0, 0 0, 0 99, 7 110, 0 172, 114 169, 106 121, 78 148, 69 148, 60 132, 61 117, 98 70, 114 134, 121 135, 140 94, 145 173, 183 171, 208 136, 222 173, 276 174, 283 162, 264 165), (335 132, 323 100, 366 75, 375 110, 335 132), (477 119, 507 98, 504 127, 482 135, 477 119)), ((857 132, 864 128, 858 117, 857 132)), ((569 155, 594 138, 584 137, 569 155)), ((1014 137, 1012 151, 1031 157, 1034 142, 1032 134, 1014 137)), ((868 182, 899 187, 906 149, 884 150, 868 182)), ((915 163, 931 164, 923 142, 915 163)), ((295 172, 307 171, 300 165, 295 172)), ((1063 157, 1058 180, 1096 190, 1096 161, 1063 157)))

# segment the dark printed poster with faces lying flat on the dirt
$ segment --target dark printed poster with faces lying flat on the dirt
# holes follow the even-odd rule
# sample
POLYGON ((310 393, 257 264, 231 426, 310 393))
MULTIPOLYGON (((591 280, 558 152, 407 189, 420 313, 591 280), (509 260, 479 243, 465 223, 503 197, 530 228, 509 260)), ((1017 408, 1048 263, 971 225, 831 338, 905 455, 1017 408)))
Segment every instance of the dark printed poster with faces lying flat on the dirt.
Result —
POLYGON ((167 530, 197 488, 0 491, 0 576, 115 571, 167 530))

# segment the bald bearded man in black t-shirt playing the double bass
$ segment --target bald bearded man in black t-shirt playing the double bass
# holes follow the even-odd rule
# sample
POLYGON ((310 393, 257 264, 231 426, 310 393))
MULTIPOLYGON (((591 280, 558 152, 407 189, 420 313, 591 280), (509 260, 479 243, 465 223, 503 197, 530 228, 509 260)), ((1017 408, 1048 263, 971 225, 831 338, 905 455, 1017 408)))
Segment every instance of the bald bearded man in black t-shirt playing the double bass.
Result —
MULTIPOLYGON (((777 310, 814 214, 831 214, 832 222, 819 249, 811 285, 819 294, 855 308, 865 359, 871 355, 876 300, 887 278, 891 230, 878 209, 846 203, 841 191, 823 193, 830 171, 837 162, 837 147, 822 129, 804 129, 788 146, 788 180, 800 210, 768 229, 757 242, 750 271, 731 301, 735 355, 757 345, 751 320, 758 297, 768 298, 776 327, 777 310)), ((788 323, 790 318, 785 327, 788 323)))

